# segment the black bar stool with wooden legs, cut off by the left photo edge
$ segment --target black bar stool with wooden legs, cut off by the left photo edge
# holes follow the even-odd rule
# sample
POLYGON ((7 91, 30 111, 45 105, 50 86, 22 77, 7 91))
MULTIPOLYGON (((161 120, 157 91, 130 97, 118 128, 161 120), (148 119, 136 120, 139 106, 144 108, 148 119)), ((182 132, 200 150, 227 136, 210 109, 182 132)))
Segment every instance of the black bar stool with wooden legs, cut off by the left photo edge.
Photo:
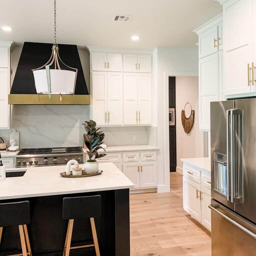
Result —
POLYGON ((0 204, 0 243, 4 227, 19 226, 22 253, 15 256, 32 256, 27 229, 29 223, 29 201, 0 204))

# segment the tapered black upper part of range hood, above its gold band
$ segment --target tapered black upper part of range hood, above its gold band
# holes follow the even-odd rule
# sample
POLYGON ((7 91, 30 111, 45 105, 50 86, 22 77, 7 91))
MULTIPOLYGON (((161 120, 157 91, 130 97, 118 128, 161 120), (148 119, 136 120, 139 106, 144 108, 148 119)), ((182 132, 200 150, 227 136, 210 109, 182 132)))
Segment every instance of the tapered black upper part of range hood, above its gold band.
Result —
MULTIPOLYGON (((77 68, 75 94, 88 95, 84 73, 76 45, 58 44, 61 60, 72 68, 77 68)), ((25 42, 13 80, 11 94, 36 94, 32 69, 43 66, 51 57, 52 44, 25 42)), ((68 69, 60 61, 60 67, 68 69)), ((54 65, 51 66, 51 69, 54 65)))

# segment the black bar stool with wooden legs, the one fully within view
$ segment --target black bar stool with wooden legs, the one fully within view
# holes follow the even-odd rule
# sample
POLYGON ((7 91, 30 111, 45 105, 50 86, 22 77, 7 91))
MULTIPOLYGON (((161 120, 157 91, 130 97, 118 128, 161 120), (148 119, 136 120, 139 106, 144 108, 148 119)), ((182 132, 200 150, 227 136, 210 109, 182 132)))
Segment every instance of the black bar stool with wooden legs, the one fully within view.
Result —
POLYGON ((100 256, 97 233, 94 223, 95 217, 101 216, 101 196, 64 197, 62 219, 68 220, 68 229, 63 256, 69 256, 71 249, 94 247, 97 256, 100 256), (71 238, 74 219, 90 218, 93 244, 71 247, 71 238))

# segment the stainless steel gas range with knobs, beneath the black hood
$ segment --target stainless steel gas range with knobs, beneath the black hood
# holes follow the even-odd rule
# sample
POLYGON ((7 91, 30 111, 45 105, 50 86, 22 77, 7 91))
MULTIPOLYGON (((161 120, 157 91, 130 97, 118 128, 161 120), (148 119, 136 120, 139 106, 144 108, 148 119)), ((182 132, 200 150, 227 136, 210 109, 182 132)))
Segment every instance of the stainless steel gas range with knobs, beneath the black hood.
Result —
POLYGON ((71 159, 84 162, 82 147, 24 148, 16 156, 16 168, 66 165, 71 159))

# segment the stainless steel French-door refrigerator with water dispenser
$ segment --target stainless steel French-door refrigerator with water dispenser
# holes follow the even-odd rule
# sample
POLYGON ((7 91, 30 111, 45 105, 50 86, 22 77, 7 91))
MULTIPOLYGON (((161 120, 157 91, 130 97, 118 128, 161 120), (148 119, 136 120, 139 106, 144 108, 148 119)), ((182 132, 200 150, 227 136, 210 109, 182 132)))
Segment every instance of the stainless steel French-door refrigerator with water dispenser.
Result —
POLYGON ((256 255, 256 99, 211 102, 212 256, 256 255))

